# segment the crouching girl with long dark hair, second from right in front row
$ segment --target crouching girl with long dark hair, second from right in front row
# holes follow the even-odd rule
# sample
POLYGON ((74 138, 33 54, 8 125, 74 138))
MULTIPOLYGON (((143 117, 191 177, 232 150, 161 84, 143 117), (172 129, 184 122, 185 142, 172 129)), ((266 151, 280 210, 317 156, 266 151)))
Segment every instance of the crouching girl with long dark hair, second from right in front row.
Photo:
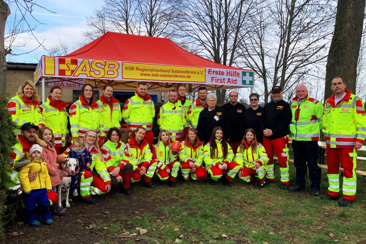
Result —
POLYGON ((210 176, 210 184, 215 185, 223 174, 223 184, 231 187, 240 165, 232 162, 234 153, 224 138, 224 131, 221 127, 213 128, 210 141, 203 147, 203 159, 206 171, 210 176))

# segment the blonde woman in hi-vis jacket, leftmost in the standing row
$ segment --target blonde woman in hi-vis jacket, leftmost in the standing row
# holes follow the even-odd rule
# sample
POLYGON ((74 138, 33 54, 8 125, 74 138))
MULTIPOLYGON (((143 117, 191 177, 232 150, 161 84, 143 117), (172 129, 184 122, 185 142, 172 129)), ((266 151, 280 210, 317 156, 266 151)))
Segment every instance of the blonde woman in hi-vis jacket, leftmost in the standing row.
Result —
POLYGON ((45 126, 38 105, 40 105, 40 98, 36 86, 29 80, 24 81, 16 92, 16 96, 10 98, 8 102, 8 111, 11 113, 11 120, 15 127, 13 135, 20 135, 20 127, 27 122, 38 125, 40 128, 45 126))

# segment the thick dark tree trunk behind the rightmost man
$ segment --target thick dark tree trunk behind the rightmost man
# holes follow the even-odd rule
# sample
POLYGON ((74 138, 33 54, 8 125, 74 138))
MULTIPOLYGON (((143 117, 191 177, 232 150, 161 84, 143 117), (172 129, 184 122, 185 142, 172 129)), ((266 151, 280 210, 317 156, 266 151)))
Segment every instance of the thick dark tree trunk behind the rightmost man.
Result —
POLYGON ((361 45, 366 0, 338 0, 336 23, 330 44, 325 74, 325 100, 336 76, 342 77, 347 89, 356 92, 357 60, 361 45))

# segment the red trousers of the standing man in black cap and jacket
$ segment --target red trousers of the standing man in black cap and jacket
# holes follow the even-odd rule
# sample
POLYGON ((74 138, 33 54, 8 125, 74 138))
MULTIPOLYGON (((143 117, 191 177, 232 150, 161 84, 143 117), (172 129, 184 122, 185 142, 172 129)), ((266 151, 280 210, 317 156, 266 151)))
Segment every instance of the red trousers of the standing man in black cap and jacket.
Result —
POLYGON ((281 171, 281 184, 289 185, 290 180, 288 169, 288 136, 270 140, 263 136, 263 146, 268 154, 267 179, 275 181, 275 167, 273 165, 273 155, 276 153, 281 171))

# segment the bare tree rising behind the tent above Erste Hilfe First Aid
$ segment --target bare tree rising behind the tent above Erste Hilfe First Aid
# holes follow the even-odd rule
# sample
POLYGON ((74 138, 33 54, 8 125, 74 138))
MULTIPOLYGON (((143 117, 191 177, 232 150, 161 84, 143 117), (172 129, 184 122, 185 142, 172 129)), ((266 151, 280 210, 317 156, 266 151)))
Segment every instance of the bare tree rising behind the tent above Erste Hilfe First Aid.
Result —
MULTIPOLYGON (((261 1, 182 0, 177 5, 179 37, 188 49, 216 63, 236 65, 240 33, 247 33, 246 21, 255 15, 261 1), (188 45, 187 45, 188 44, 188 45)), ((226 90, 217 90, 217 102, 224 102, 226 90)))

